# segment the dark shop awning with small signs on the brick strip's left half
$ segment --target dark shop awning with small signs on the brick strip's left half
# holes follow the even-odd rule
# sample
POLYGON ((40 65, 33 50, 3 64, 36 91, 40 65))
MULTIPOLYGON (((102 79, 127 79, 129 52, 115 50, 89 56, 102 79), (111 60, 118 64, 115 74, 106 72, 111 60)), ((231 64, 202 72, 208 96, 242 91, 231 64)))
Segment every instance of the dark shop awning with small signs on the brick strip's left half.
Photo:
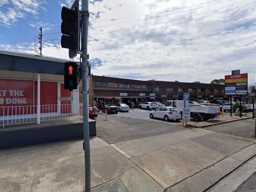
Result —
POLYGON ((151 91, 93 89, 94 97, 152 97, 151 91))

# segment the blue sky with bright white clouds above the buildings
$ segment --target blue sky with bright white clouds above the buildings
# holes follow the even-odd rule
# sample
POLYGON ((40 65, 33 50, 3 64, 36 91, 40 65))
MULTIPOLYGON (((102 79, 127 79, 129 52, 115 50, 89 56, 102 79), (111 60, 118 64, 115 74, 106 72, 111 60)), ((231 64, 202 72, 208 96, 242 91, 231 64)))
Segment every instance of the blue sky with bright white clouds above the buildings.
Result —
MULTIPOLYGON (((42 27, 42 54, 69 59, 60 25, 62 6, 72 3, 0 0, 0 49, 37 54, 42 27)), ((210 83, 240 69, 254 85, 256 42, 244 46, 256 39, 255 9, 253 0, 89 0, 91 72, 210 83)))

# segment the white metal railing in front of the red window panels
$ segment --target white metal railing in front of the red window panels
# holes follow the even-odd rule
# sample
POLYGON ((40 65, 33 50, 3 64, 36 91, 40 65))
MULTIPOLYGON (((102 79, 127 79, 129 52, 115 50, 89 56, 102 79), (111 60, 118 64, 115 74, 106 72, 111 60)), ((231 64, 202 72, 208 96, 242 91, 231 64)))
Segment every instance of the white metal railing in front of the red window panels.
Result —
MULTIPOLYGON (((40 121, 66 119, 77 115, 79 103, 40 105, 40 121)), ((37 105, 0 107, 0 127, 37 122, 37 105)))

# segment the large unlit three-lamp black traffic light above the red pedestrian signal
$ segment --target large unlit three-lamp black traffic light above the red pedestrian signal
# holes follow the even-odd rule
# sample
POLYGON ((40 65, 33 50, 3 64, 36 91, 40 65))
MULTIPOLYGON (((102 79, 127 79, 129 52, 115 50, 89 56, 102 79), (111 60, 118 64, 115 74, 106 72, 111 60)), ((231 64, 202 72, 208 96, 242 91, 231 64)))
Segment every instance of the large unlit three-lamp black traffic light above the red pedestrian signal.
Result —
POLYGON ((70 59, 76 57, 80 51, 80 12, 79 0, 71 8, 63 6, 61 10, 61 47, 67 48, 70 59))

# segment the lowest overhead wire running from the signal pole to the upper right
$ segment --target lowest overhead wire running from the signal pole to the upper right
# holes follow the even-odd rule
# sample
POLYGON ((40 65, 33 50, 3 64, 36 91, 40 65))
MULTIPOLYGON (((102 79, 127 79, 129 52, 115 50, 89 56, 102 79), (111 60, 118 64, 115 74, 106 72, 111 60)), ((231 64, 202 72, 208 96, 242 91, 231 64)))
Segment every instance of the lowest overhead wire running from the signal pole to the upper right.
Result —
MULTIPOLYGON (((255 3, 255 2, 256 1, 253 1, 253 2, 250 2, 250 3, 244 4, 244 5, 238 6, 238 7, 234 7, 234 8, 222 11, 222 12, 218 12, 218 13, 212 14, 212 15, 217 15, 217 14, 220 14, 220 13, 228 12, 228 11, 231 11, 233 9, 236 9, 236 8, 239 8, 239 7, 243 7, 243 6, 246 6, 248 4, 255 3)), ((168 25, 168 26, 164 26, 164 27, 160 27, 160 28, 154 28, 154 29, 150 29, 150 30, 146 30, 146 31, 139 31, 139 32, 135 32, 135 33, 129 33, 129 34, 126 34, 126 35, 113 36, 113 37, 109 37, 109 38, 105 38, 105 39, 97 39, 97 40, 93 39, 93 40, 89 40, 89 41, 103 41, 103 40, 112 39, 112 38, 116 38, 116 37, 123 37, 123 36, 129 36, 129 35, 133 35, 133 34, 137 34, 137 33, 144 33, 144 32, 148 32, 148 31, 154 31, 154 30, 157 30, 157 29, 163 29, 163 28, 168 28, 168 27, 174 26, 174 25, 180 25, 180 24, 183 24, 183 23, 188 23, 190 21, 202 19, 202 18, 205 18, 205 17, 210 17, 212 15, 207 15, 207 16, 204 16, 204 17, 199 17, 199 18, 188 20, 188 21, 185 21, 185 22, 176 23, 176 24, 173 24, 173 25, 168 25)))

